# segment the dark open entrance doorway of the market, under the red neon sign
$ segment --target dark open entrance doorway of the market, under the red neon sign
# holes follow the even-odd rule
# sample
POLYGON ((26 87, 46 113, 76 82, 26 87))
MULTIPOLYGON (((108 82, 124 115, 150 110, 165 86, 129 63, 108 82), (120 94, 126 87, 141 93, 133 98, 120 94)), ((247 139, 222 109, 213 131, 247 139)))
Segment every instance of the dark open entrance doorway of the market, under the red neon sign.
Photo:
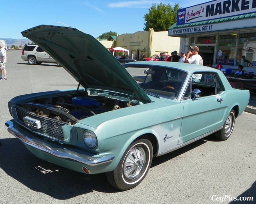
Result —
POLYGON ((203 65, 212 67, 215 46, 198 45, 198 47, 199 47, 199 55, 201 55, 201 57, 203 58, 203 65))

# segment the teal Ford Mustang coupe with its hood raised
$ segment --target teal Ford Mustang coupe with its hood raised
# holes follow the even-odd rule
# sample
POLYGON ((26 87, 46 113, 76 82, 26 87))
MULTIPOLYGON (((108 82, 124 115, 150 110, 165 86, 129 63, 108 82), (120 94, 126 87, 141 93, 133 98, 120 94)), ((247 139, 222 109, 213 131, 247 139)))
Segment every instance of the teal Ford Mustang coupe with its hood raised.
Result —
POLYGON ((75 90, 17 96, 5 123, 43 160, 106 172, 121 190, 137 186, 157 157, 207 135, 227 140, 249 101, 221 71, 177 62, 122 66, 75 28, 39 25, 22 32, 78 82, 75 90))

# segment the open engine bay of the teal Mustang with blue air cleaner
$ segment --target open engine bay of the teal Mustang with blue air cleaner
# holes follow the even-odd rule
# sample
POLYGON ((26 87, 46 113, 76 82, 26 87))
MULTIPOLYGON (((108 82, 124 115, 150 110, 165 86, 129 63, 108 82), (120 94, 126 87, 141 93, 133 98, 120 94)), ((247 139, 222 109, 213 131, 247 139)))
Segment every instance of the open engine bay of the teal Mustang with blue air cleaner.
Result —
POLYGON ((77 92, 65 96, 40 98, 19 106, 30 113, 74 125, 78 120, 93 115, 136 105, 131 101, 84 95, 84 92, 77 92))

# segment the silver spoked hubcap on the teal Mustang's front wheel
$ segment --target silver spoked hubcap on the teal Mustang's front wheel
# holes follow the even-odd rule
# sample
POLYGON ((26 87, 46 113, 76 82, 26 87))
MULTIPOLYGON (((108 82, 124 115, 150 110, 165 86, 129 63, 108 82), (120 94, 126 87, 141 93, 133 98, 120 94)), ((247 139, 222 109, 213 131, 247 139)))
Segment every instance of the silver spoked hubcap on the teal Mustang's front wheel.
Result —
POLYGON ((145 165, 145 159, 146 153, 143 148, 132 148, 124 161, 124 176, 127 179, 133 179, 138 176, 145 165))

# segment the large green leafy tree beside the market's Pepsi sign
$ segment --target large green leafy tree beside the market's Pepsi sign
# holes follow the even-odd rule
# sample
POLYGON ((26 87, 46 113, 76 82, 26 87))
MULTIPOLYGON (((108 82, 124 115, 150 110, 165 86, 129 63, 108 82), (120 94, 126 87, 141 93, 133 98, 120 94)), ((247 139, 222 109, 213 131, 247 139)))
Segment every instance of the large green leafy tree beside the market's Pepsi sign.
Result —
POLYGON ((169 3, 152 4, 148 13, 144 14, 144 31, 148 31, 149 28, 154 28, 154 31, 167 31, 176 22, 177 11, 181 9, 179 6, 174 4, 172 8, 169 3))

